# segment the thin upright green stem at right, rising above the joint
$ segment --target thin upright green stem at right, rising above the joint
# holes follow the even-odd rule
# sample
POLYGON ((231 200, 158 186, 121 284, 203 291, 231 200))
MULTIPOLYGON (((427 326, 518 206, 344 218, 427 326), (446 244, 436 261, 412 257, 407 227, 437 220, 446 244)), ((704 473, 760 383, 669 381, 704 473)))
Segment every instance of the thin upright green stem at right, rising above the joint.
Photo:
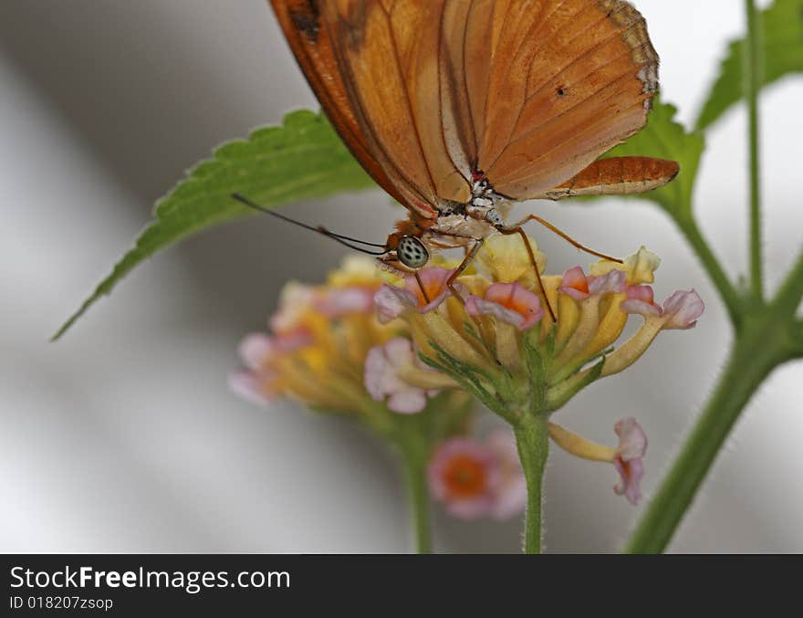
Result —
POLYGON ((750 283, 753 298, 764 300, 763 261, 761 258, 761 165, 759 152, 758 91, 761 89, 763 59, 761 56, 759 16, 755 0, 745 0, 747 39, 745 45, 745 95, 750 135, 750 283))

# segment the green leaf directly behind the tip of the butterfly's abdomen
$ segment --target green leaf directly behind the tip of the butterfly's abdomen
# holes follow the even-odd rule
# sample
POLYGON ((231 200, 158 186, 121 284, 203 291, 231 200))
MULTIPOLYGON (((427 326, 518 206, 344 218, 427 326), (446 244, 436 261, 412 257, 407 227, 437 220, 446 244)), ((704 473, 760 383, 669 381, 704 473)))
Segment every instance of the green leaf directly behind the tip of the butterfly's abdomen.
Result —
POLYGON ((650 200, 673 215, 691 215, 694 182, 697 180, 705 141, 702 133, 688 132, 681 123, 676 122, 676 113, 676 107, 656 99, 647 126, 605 156, 645 156, 678 162, 681 172, 672 183, 646 194, 623 197, 650 200))

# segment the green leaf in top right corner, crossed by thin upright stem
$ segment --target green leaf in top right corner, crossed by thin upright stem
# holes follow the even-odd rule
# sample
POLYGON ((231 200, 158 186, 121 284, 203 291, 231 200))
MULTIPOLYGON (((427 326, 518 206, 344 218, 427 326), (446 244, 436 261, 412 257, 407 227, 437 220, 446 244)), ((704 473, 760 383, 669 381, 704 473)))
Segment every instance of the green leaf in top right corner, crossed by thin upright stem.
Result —
MULTIPOLYGON (((762 86, 803 71, 803 0, 776 0, 758 18, 764 57, 762 86)), ((702 131, 744 97, 745 39, 733 41, 696 127, 702 131)))

